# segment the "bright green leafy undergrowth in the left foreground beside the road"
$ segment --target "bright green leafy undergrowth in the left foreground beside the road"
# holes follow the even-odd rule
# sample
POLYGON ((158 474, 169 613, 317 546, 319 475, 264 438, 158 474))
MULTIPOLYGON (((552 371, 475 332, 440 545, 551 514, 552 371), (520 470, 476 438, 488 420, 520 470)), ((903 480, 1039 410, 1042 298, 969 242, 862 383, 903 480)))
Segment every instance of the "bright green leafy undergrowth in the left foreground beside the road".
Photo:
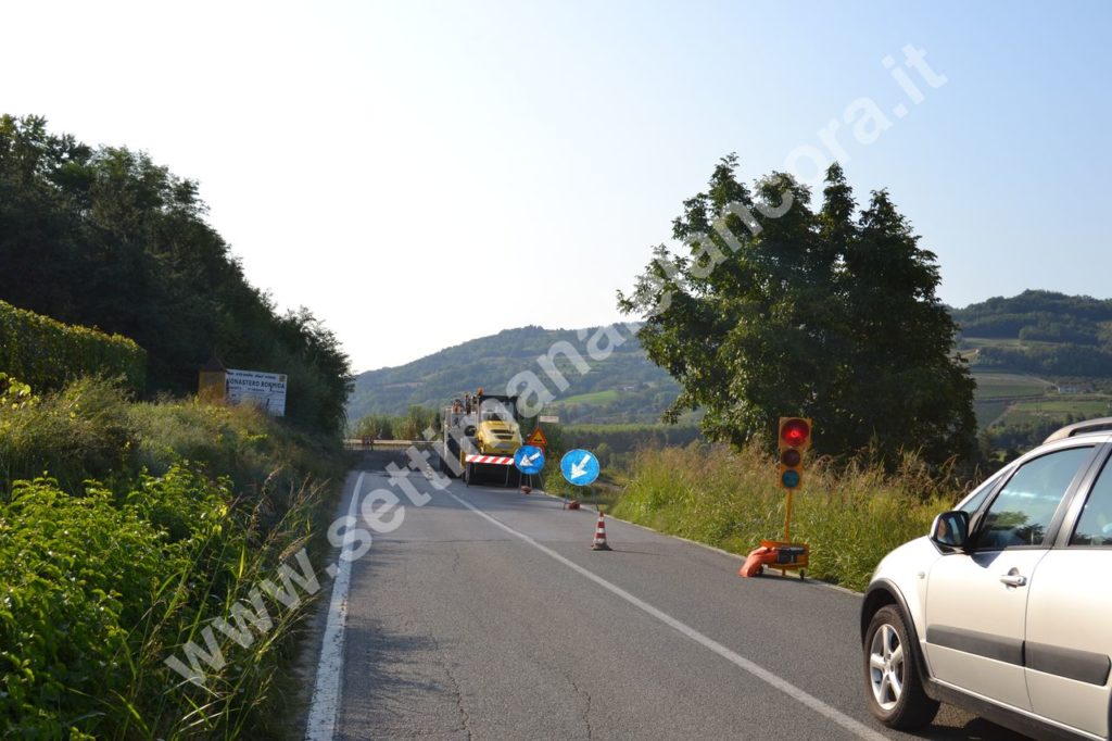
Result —
POLYGON ((235 730, 265 696, 296 611, 207 689, 183 684, 162 660, 230 614, 279 545, 308 532, 310 500, 269 531, 258 524, 261 502, 245 506, 229 482, 185 464, 141 478, 122 501, 96 485, 71 496, 49 480, 17 484, 0 505, 0 724, 27 738, 235 730), (195 718, 198 705, 206 712, 195 718))

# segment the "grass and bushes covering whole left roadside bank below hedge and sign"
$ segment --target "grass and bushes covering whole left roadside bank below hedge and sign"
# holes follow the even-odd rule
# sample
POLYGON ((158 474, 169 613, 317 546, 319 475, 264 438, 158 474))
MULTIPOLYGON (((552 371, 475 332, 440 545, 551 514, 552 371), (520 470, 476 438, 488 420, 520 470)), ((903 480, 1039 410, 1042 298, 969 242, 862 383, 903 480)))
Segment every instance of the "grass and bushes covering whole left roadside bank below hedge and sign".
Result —
POLYGON ((270 605, 202 689, 163 661, 319 536, 331 446, 251 407, 105 381, 0 397, 0 727, 20 738, 274 738, 308 602, 270 605), (49 472, 49 473, 43 473, 49 472))

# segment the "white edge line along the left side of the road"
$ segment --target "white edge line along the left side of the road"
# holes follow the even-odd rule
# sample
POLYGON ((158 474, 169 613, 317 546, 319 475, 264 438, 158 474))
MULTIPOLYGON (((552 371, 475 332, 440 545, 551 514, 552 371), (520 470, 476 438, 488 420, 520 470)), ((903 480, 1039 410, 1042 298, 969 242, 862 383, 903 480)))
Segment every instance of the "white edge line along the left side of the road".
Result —
MULTIPOLYGON (((359 472, 351 492, 348 515, 356 516, 359 492, 365 472, 359 472)), ((317 663, 317 680, 312 685, 312 703, 309 720, 305 727, 306 741, 332 741, 336 735, 336 719, 340 709, 340 680, 344 672, 344 629, 347 625, 347 597, 351 585, 351 562, 339 560, 336 581, 332 582, 332 599, 328 605, 328 622, 317 663)))

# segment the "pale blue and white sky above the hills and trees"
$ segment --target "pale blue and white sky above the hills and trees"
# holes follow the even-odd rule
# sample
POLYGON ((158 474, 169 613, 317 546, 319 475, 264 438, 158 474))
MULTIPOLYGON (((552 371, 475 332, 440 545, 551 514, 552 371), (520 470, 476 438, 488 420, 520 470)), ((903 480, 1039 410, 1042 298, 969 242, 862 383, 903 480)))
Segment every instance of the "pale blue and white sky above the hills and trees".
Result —
POLYGON ((197 180, 248 280, 309 307, 357 372, 620 318, 615 292, 729 152, 749 181, 837 159, 858 202, 887 188, 952 306, 1112 296, 1104 2, 0 0, 0 112, 197 180))

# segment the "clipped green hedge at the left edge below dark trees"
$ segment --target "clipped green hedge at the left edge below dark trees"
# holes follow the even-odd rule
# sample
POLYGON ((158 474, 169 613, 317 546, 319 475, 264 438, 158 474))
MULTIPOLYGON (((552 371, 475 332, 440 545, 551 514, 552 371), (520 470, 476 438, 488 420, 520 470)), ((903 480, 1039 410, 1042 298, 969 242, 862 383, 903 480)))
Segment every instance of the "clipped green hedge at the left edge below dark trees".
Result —
POLYGON ((127 337, 67 326, 0 300, 0 368, 42 389, 103 375, 141 392, 147 354, 127 337))

